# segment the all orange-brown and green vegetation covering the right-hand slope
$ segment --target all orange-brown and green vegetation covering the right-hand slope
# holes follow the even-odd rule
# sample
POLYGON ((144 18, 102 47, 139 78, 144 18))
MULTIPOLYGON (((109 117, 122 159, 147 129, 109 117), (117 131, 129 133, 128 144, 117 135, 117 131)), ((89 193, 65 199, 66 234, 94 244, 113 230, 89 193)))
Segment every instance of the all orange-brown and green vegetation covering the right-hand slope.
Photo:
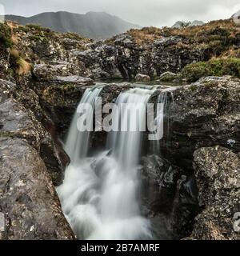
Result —
POLYGON ((202 49, 206 61, 194 62, 180 72, 179 77, 194 82, 204 76, 240 76, 240 27, 232 19, 218 20, 203 26, 186 26, 182 29, 146 27, 128 32, 139 46, 162 37, 178 36, 186 43, 176 45, 182 49, 202 49))

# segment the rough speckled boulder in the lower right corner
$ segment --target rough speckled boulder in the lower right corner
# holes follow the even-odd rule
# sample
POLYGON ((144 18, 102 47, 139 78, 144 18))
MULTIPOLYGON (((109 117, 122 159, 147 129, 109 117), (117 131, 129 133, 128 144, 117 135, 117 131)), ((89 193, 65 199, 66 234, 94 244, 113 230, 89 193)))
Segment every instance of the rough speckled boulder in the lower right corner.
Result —
POLYGON ((194 153, 194 170, 202 213, 195 219, 191 239, 240 239, 234 214, 240 211, 240 158, 215 146, 194 153))

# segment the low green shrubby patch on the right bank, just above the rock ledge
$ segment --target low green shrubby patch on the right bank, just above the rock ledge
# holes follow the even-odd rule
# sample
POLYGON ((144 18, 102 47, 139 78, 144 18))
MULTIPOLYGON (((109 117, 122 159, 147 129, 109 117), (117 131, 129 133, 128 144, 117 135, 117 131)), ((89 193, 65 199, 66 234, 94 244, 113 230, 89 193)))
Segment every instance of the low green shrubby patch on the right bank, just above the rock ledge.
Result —
POLYGON ((240 58, 212 58, 208 62, 195 62, 185 66, 182 78, 195 82, 204 76, 231 75, 240 78, 240 58))

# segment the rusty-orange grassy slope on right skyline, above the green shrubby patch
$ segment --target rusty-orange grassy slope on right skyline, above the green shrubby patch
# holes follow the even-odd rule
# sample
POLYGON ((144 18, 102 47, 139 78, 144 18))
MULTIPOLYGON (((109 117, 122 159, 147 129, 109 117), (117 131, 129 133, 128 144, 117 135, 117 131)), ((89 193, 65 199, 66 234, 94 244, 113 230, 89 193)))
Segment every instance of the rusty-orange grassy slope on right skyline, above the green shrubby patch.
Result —
POLYGON ((239 58, 239 51, 233 48, 239 48, 240 27, 232 19, 182 29, 146 27, 142 30, 130 30, 128 34, 134 38, 138 46, 147 46, 162 37, 178 36, 186 39, 186 46, 189 49, 202 49, 209 58, 227 55, 230 51, 230 57, 239 58))

